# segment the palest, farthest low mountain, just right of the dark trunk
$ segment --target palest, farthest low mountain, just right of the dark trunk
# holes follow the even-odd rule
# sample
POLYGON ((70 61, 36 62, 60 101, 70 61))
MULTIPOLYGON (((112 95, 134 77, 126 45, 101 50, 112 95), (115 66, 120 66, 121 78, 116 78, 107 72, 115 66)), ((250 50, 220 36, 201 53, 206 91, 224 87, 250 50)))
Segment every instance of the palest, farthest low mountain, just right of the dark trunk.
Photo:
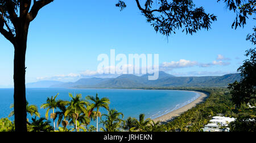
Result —
POLYGON ((64 82, 59 82, 59 81, 39 81, 39 82, 32 82, 32 83, 27 83, 26 87, 27 88, 48 88, 51 87, 52 85, 57 85, 61 84, 64 82))

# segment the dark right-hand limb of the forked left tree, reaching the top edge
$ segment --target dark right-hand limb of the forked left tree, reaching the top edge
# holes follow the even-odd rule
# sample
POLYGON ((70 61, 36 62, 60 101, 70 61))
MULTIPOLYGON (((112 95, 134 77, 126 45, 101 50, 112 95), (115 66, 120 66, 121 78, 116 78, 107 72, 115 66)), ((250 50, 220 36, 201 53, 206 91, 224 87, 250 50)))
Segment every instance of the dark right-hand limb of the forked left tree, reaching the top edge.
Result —
POLYGON ((53 2, 54 0, 34 0, 34 5, 32 6, 29 14, 30 14, 30 21, 34 20, 36 18, 36 15, 38 15, 38 11, 42 9, 42 7, 48 5, 49 3, 53 2))

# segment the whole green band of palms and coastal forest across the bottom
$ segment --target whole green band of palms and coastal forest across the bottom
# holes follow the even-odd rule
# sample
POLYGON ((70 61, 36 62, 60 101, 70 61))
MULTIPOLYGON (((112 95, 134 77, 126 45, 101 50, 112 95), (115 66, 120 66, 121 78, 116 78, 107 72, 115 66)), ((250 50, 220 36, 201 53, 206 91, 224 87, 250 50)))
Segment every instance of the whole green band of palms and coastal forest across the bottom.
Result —
MULTIPOLYGON (((86 96, 82 98, 81 94, 73 96, 69 94, 70 101, 56 100, 55 97, 48 98, 47 103, 42 104, 46 107, 46 116, 53 107, 56 114, 57 128, 52 127, 51 121, 47 118, 40 117, 36 113, 38 110, 28 111, 33 115, 31 120, 27 121, 28 131, 30 132, 94 132, 97 128, 91 123, 100 117, 102 124, 100 131, 103 132, 198 132, 209 120, 218 113, 224 116, 237 118, 236 122, 230 123, 231 131, 255 131, 256 109, 249 108, 248 104, 241 103, 236 106, 232 102, 232 92, 226 87, 170 87, 170 88, 145 88, 154 90, 193 90, 206 92, 209 94, 204 103, 198 104, 196 107, 182 113, 179 117, 169 121, 168 123, 155 122, 151 119, 145 119, 145 115, 141 114, 138 118, 126 117, 123 113, 115 109, 109 109, 109 99, 99 98, 96 96, 86 96), (93 100, 92 100, 93 99, 93 100), (56 100, 56 106, 46 106, 52 103, 49 101, 56 100), (101 102, 99 102, 101 101, 101 102), (102 102, 104 101, 104 102, 102 102), (105 110, 101 115, 99 110, 105 110), (98 107, 98 109, 97 109, 98 107), (244 119, 243 117, 246 117, 244 119), (250 120, 249 120, 250 119, 250 120)), ((29 106, 28 106, 29 107, 29 106)), ((11 114, 12 115, 12 114, 11 114)), ((54 122, 54 120, 52 120, 54 122)), ((54 124, 53 124, 54 125, 54 124)), ((0 131, 13 132, 15 129, 14 122, 7 118, 0 120, 0 131)))

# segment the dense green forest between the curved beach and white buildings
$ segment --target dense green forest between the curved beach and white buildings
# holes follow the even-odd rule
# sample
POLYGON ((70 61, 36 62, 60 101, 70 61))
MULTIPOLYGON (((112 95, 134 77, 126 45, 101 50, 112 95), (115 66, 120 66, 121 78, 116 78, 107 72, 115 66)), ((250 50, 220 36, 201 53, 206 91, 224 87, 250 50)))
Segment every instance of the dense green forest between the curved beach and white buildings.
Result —
POLYGON ((256 109, 250 109, 246 105, 238 108, 231 101, 232 94, 226 88, 197 88, 182 87, 176 90, 194 90, 208 92, 209 97, 204 103, 198 104, 191 110, 175 117, 170 122, 161 125, 160 131, 168 132, 199 132, 204 125, 217 113, 224 113, 226 117, 255 116, 256 109))

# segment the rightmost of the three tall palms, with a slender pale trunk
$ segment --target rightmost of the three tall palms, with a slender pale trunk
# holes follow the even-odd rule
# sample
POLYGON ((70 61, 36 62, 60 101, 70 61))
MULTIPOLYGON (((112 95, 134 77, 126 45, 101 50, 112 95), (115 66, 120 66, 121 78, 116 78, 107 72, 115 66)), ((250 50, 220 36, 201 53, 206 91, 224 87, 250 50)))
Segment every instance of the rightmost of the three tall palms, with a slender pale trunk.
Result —
POLYGON ((96 129, 97 130, 96 131, 98 132, 98 112, 99 112, 101 107, 105 108, 106 110, 109 109, 109 104, 110 104, 109 99, 108 98, 101 98, 100 99, 100 98, 98 98, 98 94, 96 94, 96 97, 88 95, 88 96, 86 96, 86 99, 91 100, 93 102, 92 109, 90 110, 88 116, 90 116, 92 111, 94 109, 96 109, 96 120, 97 120, 97 123, 96 123, 96 125, 97 125, 96 129))

